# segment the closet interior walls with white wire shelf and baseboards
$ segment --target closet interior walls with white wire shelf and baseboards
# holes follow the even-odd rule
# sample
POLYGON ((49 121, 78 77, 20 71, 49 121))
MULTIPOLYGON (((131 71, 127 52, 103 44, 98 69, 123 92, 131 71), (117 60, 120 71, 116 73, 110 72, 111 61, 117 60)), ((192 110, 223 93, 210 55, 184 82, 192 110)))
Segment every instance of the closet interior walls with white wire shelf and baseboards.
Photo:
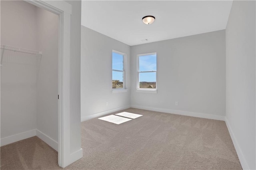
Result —
POLYGON ((25 1, 0 12, 1 146, 38 136, 57 150, 58 16, 25 1))

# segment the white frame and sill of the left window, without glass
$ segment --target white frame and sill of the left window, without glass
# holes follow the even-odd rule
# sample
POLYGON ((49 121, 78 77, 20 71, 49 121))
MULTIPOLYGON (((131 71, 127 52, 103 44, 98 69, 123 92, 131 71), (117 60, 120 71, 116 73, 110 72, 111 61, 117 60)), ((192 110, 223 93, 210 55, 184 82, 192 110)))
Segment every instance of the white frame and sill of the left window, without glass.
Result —
MULTIPOLYGON (((128 91, 126 89, 126 54, 116 51, 114 49, 112 50, 112 52, 123 55, 123 71, 112 69, 112 74, 113 74, 113 71, 123 72, 123 88, 122 89, 121 88, 120 89, 112 89, 112 93, 125 93, 128 91)), ((112 56, 112 60, 113 60, 113 56, 112 56)), ((112 64, 113 64, 113 62, 112 62, 112 64)), ((112 66, 112 68, 113 68, 113 66, 112 66)), ((113 77, 112 77, 112 79, 113 79, 113 77)))

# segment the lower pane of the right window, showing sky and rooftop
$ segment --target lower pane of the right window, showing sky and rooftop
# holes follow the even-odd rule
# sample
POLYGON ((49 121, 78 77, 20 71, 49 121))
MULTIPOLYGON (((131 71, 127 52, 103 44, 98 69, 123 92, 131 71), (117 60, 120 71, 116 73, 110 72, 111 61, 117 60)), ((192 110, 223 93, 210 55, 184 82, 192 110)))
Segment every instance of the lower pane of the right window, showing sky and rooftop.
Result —
POLYGON ((139 73, 140 88, 156 89, 156 72, 139 73))

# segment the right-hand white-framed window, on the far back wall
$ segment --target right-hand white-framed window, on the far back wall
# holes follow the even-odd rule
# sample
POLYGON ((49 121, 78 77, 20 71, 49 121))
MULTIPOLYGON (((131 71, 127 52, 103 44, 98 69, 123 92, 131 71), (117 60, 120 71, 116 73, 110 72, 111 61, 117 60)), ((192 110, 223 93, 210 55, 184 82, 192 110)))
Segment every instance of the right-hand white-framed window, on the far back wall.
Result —
POLYGON ((137 89, 156 93, 156 53, 137 55, 137 89))

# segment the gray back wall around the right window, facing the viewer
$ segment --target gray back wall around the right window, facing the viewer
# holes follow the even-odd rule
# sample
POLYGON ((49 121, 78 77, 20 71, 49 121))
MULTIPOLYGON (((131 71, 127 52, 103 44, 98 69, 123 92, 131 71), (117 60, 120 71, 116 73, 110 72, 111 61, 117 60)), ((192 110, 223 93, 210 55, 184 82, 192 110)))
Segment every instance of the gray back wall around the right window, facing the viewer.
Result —
POLYGON ((225 30, 131 48, 132 107, 225 116, 225 79, 225 30), (136 92, 136 55, 153 52, 157 93, 136 92))

